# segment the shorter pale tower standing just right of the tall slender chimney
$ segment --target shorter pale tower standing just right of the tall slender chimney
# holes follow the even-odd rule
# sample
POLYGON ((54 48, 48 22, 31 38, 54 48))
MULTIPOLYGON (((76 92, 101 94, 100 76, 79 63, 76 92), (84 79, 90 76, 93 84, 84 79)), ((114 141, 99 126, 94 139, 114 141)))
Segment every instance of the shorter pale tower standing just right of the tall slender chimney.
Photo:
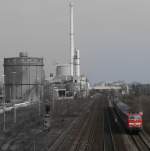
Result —
POLYGON ((79 49, 75 49, 74 53, 74 77, 80 77, 80 51, 79 49))

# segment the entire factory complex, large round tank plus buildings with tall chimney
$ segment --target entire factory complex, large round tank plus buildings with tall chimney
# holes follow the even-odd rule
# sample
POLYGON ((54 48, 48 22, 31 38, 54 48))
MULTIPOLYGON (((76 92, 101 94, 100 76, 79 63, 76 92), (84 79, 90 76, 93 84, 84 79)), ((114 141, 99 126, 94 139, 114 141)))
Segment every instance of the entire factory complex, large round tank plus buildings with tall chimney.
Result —
MULTIPOLYGON (((74 4, 70 8, 70 63, 58 64, 56 73, 50 75, 49 99, 73 99, 86 97, 89 82, 80 73, 80 51, 74 43, 74 4), (55 76, 54 76, 55 75, 55 76)), ((27 52, 20 52, 18 57, 4 58, 5 102, 17 103, 35 101, 43 97, 45 84, 43 58, 30 57, 27 52)))

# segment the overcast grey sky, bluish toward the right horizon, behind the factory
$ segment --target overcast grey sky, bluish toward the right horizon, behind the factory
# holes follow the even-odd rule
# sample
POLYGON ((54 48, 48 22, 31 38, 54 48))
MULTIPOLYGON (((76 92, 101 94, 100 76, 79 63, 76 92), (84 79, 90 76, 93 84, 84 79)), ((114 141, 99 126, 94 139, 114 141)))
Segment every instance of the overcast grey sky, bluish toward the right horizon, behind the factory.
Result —
MULTIPOLYGON (((150 0, 75 0, 75 43, 91 82, 150 82, 150 0)), ((0 58, 19 51, 69 61, 67 0, 0 0, 0 58)))

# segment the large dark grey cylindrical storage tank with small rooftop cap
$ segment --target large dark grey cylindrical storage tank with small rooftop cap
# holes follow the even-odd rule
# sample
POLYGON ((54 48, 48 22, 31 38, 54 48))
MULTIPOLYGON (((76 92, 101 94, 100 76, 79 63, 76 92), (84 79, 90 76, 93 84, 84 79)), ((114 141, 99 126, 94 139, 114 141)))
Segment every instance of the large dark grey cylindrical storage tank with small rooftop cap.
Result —
POLYGON ((4 58, 6 101, 39 96, 44 82, 43 66, 43 58, 28 57, 27 53, 20 53, 16 58, 4 58))

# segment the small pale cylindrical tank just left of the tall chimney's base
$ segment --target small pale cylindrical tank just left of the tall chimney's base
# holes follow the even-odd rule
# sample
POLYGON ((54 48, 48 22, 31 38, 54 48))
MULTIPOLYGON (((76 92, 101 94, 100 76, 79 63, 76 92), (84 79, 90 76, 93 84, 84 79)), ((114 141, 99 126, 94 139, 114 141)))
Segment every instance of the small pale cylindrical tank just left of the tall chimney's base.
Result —
POLYGON ((56 66, 56 77, 70 76, 70 65, 63 64, 56 66))

